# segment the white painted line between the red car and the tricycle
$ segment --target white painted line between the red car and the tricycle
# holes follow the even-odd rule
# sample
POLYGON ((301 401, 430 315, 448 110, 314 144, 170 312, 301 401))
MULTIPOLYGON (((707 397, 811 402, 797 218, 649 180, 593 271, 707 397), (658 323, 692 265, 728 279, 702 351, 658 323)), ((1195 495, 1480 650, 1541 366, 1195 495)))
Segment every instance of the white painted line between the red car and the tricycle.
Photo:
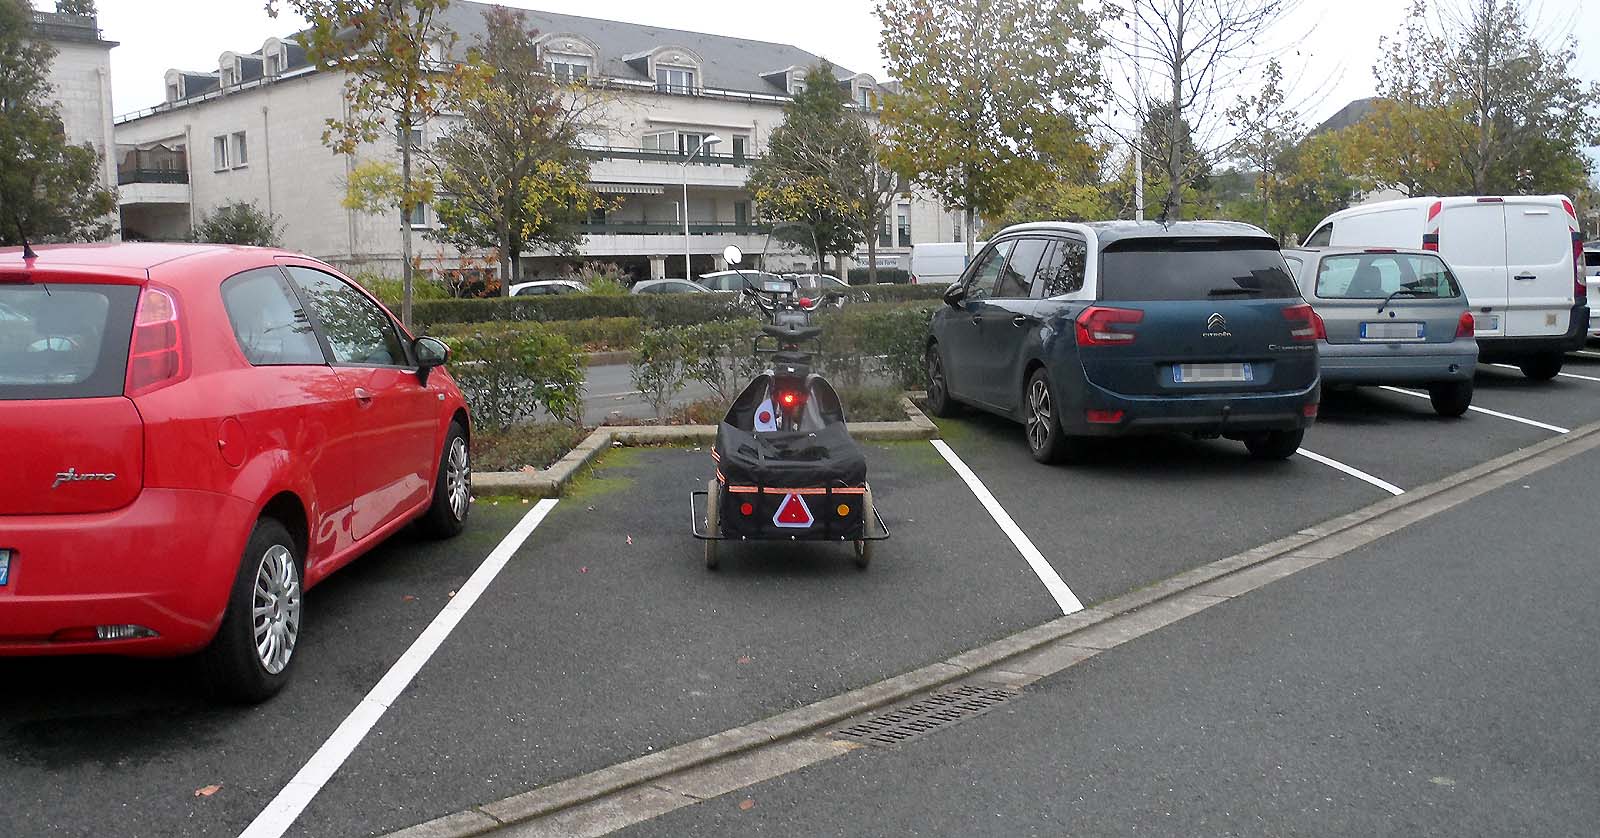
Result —
POLYGON ((350 758, 350 753, 362 744, 362 739, 366 737, 384 712, 400 697, 400 691, 411 683, 411 678, 416 678, 416 673, 422 670, 422 664, 427 664, 427 659, 438 651, 445 638, 456 630, 456 624, 467 616, 467 611, 478 601, 478 597, 488 590, 494 577, 510 561, 510 557, 522 547, 522 542, 528 541, 528 536, 533 534, 534 528, 544 521, 544 517, 552 509, 555 509, 554 499, 539 501, 538 505, 517 521, 517 526, 501 539, 494 552, 472 573, 467 584, 461 585, 450 603, 445 605, 445 609, 411 641, 411 648, 389 667, 382 680, 355 705, 355 710, 350 710, 350 715, 344 716, 344 721, 333 731, 333 736, 317 748, 317 753, 290 779, 290 784, 278 792, 278 796, 272 798, 272 803, 250 822, 250 827, 240 833, 240 838, 282 838, 288 832, 294 819, 322 792, 323 784, 333 777, 333 772, 350 758))

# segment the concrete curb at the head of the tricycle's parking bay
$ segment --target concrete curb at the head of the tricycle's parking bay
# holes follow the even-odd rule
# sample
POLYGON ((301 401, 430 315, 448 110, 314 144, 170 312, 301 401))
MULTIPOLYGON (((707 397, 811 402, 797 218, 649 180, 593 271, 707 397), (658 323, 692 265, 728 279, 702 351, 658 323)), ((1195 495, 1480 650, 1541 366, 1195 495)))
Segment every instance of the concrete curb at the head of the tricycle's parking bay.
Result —
MULTIPOLYGON (((904 422, 853 422, 850 435, 867 441, 936 440, 938 425, 917 409, 909 397, 901 397, 904 422)), ((472 472, 472 489, 478 494, 510 497, 560 497, 602 451, 632 445, 712 443, 717 425, 602 425, 578 443, 549 469, 525 472, 472 472)))

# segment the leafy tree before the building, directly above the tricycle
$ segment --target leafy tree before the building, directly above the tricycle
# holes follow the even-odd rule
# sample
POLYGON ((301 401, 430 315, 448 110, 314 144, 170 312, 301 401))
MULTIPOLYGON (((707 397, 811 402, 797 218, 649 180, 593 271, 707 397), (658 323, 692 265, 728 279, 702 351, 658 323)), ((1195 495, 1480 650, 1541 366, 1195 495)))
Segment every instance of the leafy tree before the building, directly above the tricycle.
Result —
POLYGON ((760 216, 794 222, 774 227, 773 237, 806 248, 819 270, 829 254, 854 253, 864 235, 851 174, 866 178, 870 136, 848 118, 845 101, 832 66, 806 70, 805 90, 784 106, 782 125, 750 166, 760 216))

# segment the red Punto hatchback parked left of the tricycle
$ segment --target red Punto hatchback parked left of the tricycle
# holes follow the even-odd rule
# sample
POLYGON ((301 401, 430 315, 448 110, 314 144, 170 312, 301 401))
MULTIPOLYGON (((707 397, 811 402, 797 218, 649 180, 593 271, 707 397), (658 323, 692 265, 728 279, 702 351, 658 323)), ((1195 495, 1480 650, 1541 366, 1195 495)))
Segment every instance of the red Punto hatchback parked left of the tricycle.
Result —
POLYGON ((200 651, 277 692, 306 589, 466 525, 446 355, 291 253, 0 249, 0 656, 200 651))

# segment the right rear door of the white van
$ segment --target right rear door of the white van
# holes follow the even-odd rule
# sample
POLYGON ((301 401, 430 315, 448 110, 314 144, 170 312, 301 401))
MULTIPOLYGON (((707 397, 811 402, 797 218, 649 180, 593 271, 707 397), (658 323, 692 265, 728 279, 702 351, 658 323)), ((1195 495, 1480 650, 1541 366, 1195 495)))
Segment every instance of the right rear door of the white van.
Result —
POLYGON ((1506 309, 1509 336, 1562 336, 1573 317, 1573 230, 1566 211, 1542 200, 1506 198, 1506 309))

